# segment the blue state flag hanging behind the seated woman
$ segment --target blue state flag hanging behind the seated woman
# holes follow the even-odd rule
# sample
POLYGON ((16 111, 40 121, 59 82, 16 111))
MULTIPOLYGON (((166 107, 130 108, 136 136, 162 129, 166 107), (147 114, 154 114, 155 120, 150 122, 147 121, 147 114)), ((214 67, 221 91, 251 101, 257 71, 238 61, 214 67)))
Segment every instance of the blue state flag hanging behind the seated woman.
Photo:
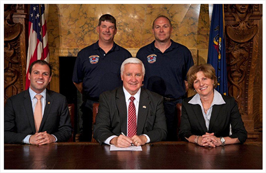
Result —
POLYGON ((223 5, 213 5, 207 63, 211 64, 216 71, 217 91, 227 95, 223 5))

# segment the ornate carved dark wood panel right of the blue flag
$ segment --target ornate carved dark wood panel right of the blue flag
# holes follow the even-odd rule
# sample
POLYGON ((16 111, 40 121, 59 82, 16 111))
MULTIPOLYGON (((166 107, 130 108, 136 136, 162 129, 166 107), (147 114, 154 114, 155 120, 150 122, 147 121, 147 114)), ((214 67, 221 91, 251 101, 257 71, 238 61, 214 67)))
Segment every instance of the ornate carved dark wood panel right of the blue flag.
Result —
POLYGON ((247 131, 254 131, 253 88, 262 15, 259 5, 225 5, 224 12, 228 94, 238 103, 247 131))

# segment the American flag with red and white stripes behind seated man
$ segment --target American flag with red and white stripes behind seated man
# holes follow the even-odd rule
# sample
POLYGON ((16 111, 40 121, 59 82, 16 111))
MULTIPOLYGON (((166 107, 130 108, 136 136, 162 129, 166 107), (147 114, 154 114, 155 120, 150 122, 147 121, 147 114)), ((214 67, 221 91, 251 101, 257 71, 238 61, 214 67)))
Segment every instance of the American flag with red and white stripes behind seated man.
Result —
POLYGON ((30 80, 28 79, 30 65, 37 60, 45 60, 49 62, 48 37, 44 4, 33 4, 30 8, 26 90, 30 86, 30 80))

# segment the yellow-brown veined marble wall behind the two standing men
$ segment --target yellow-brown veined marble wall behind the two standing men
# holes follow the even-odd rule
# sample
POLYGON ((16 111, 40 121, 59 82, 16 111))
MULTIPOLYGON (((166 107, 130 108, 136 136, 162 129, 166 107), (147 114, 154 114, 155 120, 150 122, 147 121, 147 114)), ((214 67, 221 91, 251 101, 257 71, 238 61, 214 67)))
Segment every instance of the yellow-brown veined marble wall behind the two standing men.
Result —
POLYGON ((103 14, 116 19, 114 41, 133 56, 154 40, 152 23, 167 16, 174 31, 172 40, 187 46, 195 64, 206 63, 210 27, 209 5, 47 5, 50 63, 54 75, 50 89, 59 92, 59 56, 77 56, 84 47, 98 40, 96 27, 103 14))

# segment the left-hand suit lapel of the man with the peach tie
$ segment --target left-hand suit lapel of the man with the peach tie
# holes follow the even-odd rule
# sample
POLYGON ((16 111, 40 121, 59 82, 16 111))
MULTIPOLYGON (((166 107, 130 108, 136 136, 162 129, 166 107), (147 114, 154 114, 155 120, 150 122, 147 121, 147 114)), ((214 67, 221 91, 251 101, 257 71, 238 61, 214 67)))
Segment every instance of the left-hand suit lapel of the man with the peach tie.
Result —
POLYGON ((32 101, 31 101, 31 96, 29 94, 29 90, 27 90, 25 92, 25 95, 24 95, 24 107, 25 107, 25 110, 27 112, 27 116, 29 118, 29 121, 30 121, 30 124, 31 124, 31 127, 32 127, 32 131, 35 133, 36 132, 36 129, 35 129, 35 123, 34 123, 34 115, 33 115, 33 110, 32 110, 32 101))

